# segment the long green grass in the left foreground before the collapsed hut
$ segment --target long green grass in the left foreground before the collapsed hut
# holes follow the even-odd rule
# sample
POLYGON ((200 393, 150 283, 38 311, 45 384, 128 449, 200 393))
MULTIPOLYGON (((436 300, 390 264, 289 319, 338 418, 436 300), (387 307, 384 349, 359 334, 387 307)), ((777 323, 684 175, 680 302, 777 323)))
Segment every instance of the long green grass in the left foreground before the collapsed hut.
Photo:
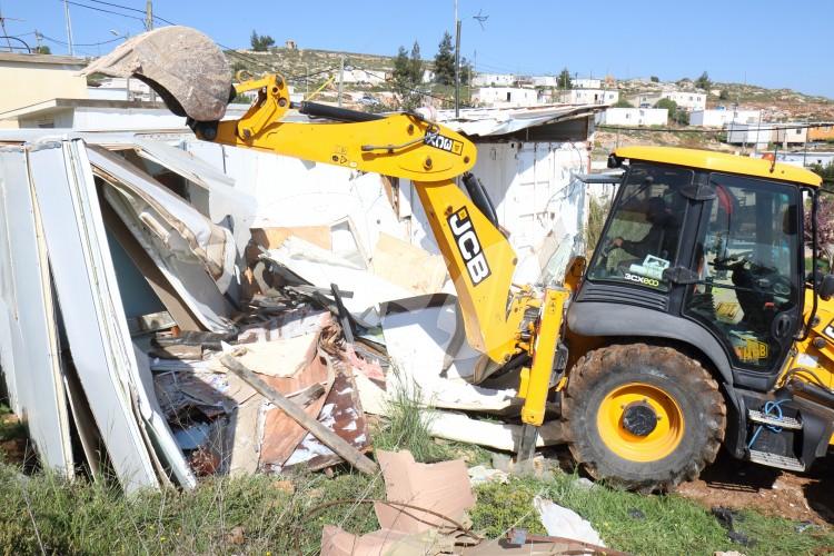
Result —
POLYGON ((384 496, 381 478, 341 474, 214 479, 191 492, 167 489, 126 497, 120 489, 47 474, 21 479, 0 467, 0 552, 3 554, 316 554, 325 524, 367 533, 378 528, 370 505, 327 508, 338 498, 384 496), (286 479, 286 477, 284 478, 286 479))

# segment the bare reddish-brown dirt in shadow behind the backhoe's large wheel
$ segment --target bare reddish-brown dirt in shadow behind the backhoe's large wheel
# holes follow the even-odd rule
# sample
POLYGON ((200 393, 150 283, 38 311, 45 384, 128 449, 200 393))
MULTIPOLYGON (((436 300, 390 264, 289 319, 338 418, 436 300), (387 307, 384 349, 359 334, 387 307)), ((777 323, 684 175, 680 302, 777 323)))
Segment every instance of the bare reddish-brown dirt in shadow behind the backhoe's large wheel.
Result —
POLYGON ((763 514, 797 522, 834 524, 834 451, 817 459, 807 474, 772 469, 722 454, 677 493, 702 504, 734 509, 755 508, 763 514))

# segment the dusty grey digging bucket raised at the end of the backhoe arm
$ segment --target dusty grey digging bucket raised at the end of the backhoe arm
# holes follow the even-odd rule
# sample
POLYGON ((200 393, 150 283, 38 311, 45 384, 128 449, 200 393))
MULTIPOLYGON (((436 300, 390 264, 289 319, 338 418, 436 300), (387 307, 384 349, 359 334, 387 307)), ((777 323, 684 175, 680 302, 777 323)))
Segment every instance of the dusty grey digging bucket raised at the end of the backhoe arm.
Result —
POLYGON ((161 27, 132 37, 81 75, 133 77, 150 86, 177 116, 217 121, 234 93, 231 70, 215 42, 189 27, 161 27))

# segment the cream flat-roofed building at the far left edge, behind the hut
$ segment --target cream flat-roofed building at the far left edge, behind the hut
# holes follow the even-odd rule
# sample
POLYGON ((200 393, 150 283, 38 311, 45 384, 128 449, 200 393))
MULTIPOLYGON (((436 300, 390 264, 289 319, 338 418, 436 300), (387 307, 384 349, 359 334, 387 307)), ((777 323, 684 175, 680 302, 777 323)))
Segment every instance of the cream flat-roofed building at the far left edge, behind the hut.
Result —
MULTIPOLYGON (((78 75, 87 61, 69 56, 0 52, 0 113, 53 99, 87 98, 87 78, 78 75)), ((16 120, 0 127, 16 127, 16 120)))

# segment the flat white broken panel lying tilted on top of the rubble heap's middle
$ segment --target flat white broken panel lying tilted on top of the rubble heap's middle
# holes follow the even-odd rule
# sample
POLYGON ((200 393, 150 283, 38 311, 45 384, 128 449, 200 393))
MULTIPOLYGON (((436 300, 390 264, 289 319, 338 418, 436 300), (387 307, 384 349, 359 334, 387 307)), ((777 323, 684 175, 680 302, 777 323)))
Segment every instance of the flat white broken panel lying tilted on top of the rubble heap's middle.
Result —
POLYGON ((270 249, 264 257, 292 270, 316 287, 330 289, 336 284, 340 290, 351 291, 345 297, 345 307, 364 320, 375 325, 375 308, 391 299, 410 297, 405 288, 375 276, 356 261, 344 259, 327 249, 290 236, 280 247, 270 249))

